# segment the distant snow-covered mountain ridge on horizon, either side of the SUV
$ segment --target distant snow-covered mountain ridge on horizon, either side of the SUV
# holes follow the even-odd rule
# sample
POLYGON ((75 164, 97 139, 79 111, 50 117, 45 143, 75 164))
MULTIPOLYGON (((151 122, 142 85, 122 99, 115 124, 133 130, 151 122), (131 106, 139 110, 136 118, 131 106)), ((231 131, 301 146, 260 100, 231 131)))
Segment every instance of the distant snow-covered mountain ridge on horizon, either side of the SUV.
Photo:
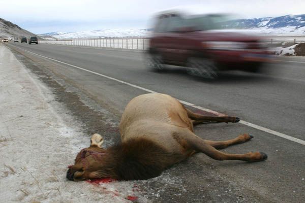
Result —
MULTIPOLYGON (((237 19, 228 21, 226 26, 234 29, 248 29, 253 32, 268 35, 302 36, 305 35, 305 14, 237 19)), ((40 36, 51 36, 56 39, 147 37, 150 31, 151 29, 100 29, 77 32, 49 32, 40 36)))

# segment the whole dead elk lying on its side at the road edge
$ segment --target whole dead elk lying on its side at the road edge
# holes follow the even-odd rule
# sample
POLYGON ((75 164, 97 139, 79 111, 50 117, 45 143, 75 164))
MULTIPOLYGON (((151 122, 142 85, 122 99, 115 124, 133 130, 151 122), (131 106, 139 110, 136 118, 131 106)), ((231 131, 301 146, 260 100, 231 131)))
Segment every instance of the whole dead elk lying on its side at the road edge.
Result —
POLYGON ((103 149, 102 136, 94 134, 90 147, 77 154, 67 178, 74 181, 95 178, 149 179, 198 152, 216 160, 261 161, 267 158, 263 152, 228 154, 219 151, 253 137, 246 133, 228 141, 203 140, 196 136, 193 126, 208 121, 234 123, 239 118, 195 114, 166 94, 137 96, 129 102, 121 117, 120 144, 103 149))

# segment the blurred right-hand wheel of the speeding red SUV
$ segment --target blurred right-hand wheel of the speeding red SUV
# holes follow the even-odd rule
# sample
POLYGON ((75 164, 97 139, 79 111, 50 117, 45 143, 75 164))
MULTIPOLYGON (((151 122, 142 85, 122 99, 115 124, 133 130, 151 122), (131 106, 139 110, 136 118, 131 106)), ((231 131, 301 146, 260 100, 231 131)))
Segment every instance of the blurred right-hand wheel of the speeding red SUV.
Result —
POLYGON ((188 73, 192 76, 201 78, 218 78, 218 68, 216 63, 214 60, 209 58, 190 58, 188 60, 188 73))

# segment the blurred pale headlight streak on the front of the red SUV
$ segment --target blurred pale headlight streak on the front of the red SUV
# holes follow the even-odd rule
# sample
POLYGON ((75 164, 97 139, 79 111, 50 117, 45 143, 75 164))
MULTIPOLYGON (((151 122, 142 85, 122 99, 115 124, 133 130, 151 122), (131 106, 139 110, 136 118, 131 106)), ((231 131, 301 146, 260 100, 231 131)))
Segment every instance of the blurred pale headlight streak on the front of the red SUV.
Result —
POLYGON ((202 42, 202 45, 208 49, 220 49, 220 50, 247 49, 247 44, 244 42, 209 41, 209 42, 202 42))

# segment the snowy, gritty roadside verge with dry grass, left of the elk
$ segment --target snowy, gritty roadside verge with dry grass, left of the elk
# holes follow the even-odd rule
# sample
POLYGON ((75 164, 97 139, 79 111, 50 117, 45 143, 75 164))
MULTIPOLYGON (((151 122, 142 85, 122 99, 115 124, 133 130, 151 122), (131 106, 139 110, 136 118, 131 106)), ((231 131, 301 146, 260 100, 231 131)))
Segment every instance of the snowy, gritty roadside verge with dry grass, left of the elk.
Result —
POLYGON ((0 202, 130 202, 134 182, 66 179, 89 145, 83 124, 1 44, 0 58, 0 202))

